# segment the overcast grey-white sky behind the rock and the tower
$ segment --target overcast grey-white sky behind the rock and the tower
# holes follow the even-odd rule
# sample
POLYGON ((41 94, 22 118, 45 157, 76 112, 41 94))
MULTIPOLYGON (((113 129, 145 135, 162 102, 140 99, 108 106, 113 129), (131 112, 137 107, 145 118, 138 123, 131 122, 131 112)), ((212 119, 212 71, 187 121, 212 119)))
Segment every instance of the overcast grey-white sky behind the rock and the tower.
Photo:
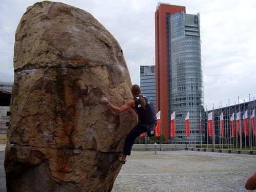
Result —
MULTIPOLYGON (((38 1, 0 1, 0 81, 13 82, 15 30, 28 6, 38 1)), ((140 65, 155 65, 157 0, 60 0, 90 12, 118 40, 133 84, 140 65)), ((205 108, 256 98, 256 1, 165 0, 201 16, 205 108)), ((256 106, 256 103, 255 103, 256 106)))

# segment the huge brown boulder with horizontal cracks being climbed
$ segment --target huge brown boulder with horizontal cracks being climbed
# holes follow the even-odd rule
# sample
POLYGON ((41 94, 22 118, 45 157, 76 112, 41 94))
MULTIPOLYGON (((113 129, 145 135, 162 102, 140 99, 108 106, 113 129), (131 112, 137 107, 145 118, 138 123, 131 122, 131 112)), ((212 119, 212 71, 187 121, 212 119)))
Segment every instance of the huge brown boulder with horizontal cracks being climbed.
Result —
POLYGON ((17 27, 5 155, 8 191, 111 191, 117 156, 136 124, 100 103, 132 98, 116 39, 90 13, 54 2, 17 27))

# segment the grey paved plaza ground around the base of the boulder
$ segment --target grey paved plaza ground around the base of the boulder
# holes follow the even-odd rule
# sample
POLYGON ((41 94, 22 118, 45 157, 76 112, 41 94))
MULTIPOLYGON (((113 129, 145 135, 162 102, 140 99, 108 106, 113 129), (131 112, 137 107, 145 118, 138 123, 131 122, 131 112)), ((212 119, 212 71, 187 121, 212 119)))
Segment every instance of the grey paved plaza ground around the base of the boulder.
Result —
MULTIPOLYGON (((0 146, 0 191, 6 191, 4 147, 0 146)), ((255 155, 196 151, 132 151, 112 192, 247 191, 255 155)))

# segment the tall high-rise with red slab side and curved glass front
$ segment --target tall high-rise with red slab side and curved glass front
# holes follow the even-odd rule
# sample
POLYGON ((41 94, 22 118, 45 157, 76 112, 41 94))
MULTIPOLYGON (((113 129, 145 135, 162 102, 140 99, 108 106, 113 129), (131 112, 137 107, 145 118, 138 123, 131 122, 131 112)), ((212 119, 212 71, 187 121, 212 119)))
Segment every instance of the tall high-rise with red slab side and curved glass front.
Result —
POLYGON ((161 111, 162 138, 200 143, 200 112, 204 114, 200 15, 186 14, 183 6, 159 3, 155 30, 156 111, 161 111), (176 137, 171 138, 170 115, 174 111, 176 137), (190 137, 185 137, 188 111, 190 137))

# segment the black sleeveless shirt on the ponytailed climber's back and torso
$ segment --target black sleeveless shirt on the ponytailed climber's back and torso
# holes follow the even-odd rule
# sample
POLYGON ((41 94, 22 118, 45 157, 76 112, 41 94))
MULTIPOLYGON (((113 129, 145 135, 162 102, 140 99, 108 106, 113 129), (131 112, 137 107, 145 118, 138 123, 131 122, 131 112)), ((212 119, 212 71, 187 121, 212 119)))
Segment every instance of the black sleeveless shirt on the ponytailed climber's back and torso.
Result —
POLYGON ((156 122, 156 113, 155 113, 155 108, 153 104, 151 104, 150 101, 146 98, 146 96, 141 95, 146 101, 145 108, 146 110, 143 109, 140 98, 136 97, 134 98, 135 101, 135 107, 134 110, 137 112, 137 115, 139 117, 139 122, 144 125, 151 125, 156 122))

